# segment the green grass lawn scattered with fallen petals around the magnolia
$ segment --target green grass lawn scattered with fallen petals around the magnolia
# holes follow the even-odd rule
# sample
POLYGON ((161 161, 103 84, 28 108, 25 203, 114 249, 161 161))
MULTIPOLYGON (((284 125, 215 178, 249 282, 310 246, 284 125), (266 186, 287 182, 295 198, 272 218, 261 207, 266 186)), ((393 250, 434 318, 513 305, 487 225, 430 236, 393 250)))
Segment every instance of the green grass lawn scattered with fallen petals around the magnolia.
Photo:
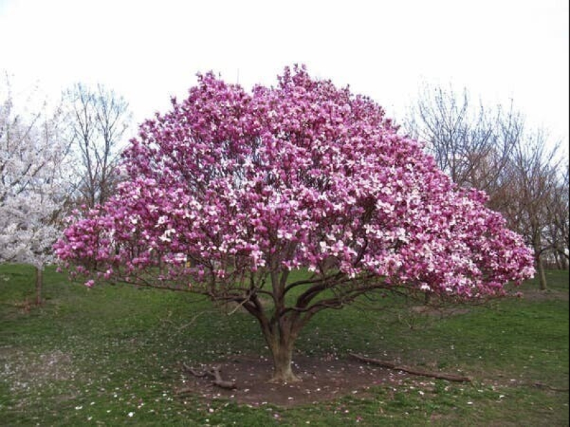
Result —
POLYGON ((569 275, 549 290, 444 319, 394 308, 317 315, 298 340, 307 355, 361 352, 471 375, 471 384, 410 377, 367 397, 252 408, 178 399, 180 361, 266 352, 256 321, 228 318, 193 295, 126 286, 93 289, 48 269, 35 308, 33 271, 0 266, 2 426, 567 426, 569 275), (538 296, 537 296, 538 295, 538 296), (536 386, 546 385, 544 386, 536 386), (132 413, 132 417, 129 417, 132 413))

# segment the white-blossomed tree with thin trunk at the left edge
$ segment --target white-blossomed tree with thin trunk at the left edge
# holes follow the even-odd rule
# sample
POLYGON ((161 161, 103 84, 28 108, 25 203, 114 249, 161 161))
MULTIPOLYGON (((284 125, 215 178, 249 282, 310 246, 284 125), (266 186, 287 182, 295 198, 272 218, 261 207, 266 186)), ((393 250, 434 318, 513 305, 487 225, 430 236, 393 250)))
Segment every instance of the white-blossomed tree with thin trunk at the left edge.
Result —
POLYGON ((40 304, 42 272, 59 236, 66 144, 59 110, 38 110, 18 110, 6 79, 0 88, 0 262, 35 267, 40 304))

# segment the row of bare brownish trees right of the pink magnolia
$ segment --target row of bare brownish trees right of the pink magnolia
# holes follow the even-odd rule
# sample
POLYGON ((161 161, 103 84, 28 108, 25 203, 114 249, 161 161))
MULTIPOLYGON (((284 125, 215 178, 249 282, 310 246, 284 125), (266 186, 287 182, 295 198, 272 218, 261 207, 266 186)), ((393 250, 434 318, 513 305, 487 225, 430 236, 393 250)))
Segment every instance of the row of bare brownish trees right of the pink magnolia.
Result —
POLYGON ((540 288, 544 267, 569 267, 569 164, 544 129, 531 129, 513 103, 485 106, 467 89, 421 88, 403 131, 459 186, 488 194, 509 228, 533 248, 540 288))

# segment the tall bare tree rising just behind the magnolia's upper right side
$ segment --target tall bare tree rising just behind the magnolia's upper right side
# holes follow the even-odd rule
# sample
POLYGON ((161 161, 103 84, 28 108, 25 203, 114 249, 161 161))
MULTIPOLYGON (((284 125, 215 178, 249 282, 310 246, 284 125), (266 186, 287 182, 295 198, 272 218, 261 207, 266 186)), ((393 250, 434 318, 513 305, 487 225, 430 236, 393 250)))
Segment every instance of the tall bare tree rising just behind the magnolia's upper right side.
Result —
POLYGON ((512 103, 508 109, 486 108, 480 101, 473 103, 466 89, 458 95, 453 88, 424 85, 403 127, 426 143, 439 168, 455 183, 485 190, 491 197, 489 206, 500 210, 502 171, 524 127, 512 103))

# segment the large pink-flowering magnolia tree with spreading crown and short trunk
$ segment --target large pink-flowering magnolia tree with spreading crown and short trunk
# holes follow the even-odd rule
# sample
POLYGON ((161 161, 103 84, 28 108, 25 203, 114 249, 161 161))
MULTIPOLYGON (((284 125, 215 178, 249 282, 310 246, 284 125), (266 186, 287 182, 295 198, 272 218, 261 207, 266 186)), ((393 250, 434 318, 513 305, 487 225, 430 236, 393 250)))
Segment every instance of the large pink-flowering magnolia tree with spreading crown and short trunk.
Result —
POLYGON ((321 310, 374 290, 482 299, 533 275, 482 192, 457 188, 376 103, 305 68, 251 93, 200 76, 142 124, 123 168, 117 195, 77 212, 57 255, 88 286, 234 301, 258 320, 274 381, 297 379, 294 343, 321 310))

